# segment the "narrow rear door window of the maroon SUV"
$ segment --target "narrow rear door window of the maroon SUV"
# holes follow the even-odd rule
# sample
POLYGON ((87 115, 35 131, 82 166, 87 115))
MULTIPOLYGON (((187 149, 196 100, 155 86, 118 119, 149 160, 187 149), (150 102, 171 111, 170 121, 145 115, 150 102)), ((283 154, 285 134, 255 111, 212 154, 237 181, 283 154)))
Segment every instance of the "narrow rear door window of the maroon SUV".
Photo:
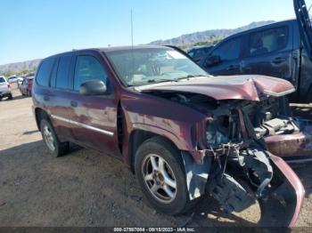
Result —
POLYGON ((70 61, 71 55, 62 56, 56 73, 56 88, 70 89, 70 61))

